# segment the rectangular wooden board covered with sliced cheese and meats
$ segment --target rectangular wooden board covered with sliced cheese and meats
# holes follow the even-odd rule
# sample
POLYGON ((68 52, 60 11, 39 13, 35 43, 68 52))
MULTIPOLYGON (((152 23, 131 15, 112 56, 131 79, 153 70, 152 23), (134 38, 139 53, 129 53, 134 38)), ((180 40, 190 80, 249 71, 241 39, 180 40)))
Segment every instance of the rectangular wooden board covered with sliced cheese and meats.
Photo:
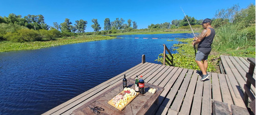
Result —
POLYGON ((122 111, 129 103, 131 103, 139 95, 139 93, 136 93, 135 90, 132 90, 134 89, 124 89, 123 91, 121 91, 121 93, 119 93, 117 96, 111 99, 108 103, 113 107, 117 108, 118 110, 122 111))

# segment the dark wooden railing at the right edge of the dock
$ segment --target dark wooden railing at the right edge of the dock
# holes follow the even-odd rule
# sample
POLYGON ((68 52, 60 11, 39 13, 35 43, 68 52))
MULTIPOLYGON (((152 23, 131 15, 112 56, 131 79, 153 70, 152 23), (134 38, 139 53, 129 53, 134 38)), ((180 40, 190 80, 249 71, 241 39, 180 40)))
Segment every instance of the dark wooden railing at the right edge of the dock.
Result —
POLYGON ((248 61, 250 61, 249 71, 246 73, 246 84, 244 84, 244 103, 246 106, 248 106, 248 97, 251 100, 251 103, 249 104, 250 108, 252 109, 253 113, 255 114, 255 96, 251 92, 250 88, 251 85, 255 88, 255 79, 253 78, 253 72, 255 68, 255 58, 247 58, 248 61))

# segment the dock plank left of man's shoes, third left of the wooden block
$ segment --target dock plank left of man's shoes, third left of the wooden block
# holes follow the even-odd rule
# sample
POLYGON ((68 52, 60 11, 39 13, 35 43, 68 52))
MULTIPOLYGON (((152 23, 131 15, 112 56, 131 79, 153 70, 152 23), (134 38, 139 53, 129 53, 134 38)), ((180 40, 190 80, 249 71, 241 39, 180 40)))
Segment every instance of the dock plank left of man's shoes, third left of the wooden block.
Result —
POLYGON ((185 98, 184 98, 184 101, 183 101, 183 104, 181 106, 181 110, 179 113, 189 114, 190 108, 191 108, 191 103, 193 101, 197 78, 198 78, 198 75, 196 74, 196 70, 194 70, 193 76, 190 80, 190 83, 187 88, 187 92, 186 92, 186 95, 185 95, 185 98))

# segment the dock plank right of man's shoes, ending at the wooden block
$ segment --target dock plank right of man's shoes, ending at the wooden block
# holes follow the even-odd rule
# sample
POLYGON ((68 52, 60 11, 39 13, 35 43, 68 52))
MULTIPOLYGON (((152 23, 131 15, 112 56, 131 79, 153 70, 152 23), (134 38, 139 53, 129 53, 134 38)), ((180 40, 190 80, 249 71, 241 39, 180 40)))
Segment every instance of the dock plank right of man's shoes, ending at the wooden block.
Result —
POLYGON ((212 79, 212 99, 214 101, 222 102, 221 89, 220 89, 218 74, 217 73, 211 73, 211 79, 212 79))

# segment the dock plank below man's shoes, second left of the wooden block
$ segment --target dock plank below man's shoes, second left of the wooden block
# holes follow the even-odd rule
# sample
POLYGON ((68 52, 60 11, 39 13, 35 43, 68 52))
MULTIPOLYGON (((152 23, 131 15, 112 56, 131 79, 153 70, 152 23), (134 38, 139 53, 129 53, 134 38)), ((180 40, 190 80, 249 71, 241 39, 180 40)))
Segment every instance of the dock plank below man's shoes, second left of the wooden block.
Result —
POLYGON ((202 94, 203 94, 203 81, 200 81, 201 77, 197 80, 196 92, 193 99, 193 104, 190 114, 201 114, 201 103, 202 103, 202 94))

